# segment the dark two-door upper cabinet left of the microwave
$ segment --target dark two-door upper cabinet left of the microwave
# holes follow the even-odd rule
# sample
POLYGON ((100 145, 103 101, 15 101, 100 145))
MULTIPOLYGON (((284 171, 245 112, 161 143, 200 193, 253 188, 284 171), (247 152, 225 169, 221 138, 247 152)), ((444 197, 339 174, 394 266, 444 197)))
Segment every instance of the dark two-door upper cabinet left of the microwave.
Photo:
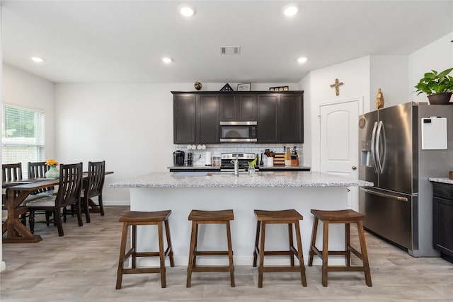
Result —
POLYGON ((219 142, 219 96, 173 93, 173 144, 219 142))

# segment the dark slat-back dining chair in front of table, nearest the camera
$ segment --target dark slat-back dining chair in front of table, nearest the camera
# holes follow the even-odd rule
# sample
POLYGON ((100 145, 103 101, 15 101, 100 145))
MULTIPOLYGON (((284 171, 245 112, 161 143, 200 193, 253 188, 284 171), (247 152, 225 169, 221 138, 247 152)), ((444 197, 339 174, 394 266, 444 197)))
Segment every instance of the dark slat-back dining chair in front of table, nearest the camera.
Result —
POLYGON ((35 211, 45 210, 53 212, 53 220, 57 223, 58 235, 64 236, 61 209, 74 205, 79 226, 84 223, 81 218, 80 194, 83 178, 83 163, 60 165, 59 189, 56 196, 47 196, 28 202, 30 209, 30 231, 35 228, 35 211))

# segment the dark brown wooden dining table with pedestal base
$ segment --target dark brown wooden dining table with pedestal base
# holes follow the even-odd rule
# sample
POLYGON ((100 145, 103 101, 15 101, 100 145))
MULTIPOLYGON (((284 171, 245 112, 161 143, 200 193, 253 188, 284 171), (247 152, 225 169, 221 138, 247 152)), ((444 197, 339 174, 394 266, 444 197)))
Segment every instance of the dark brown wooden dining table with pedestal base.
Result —
MULTIPOLYGON (((108 174, 113 174, 113 171, 105 171, 105 175, 108 174)), ((86 181, 88 173, 84 172, 83 178, 86 181)), ((3 243, 37 243, 42 240, 41 236, 31 233, 19 219, 20 209, 24 207, 21 204, 35 190, 55 185, 59 185, 59 178, 30 178, 2 184, 4 189, 7 188, 6 209, 8 210, 8 218, 4 221, 7 233, 6 238, 2 238, 3 243)), ((90 205, 95 209, 97 207, 96 204, 90 205)))

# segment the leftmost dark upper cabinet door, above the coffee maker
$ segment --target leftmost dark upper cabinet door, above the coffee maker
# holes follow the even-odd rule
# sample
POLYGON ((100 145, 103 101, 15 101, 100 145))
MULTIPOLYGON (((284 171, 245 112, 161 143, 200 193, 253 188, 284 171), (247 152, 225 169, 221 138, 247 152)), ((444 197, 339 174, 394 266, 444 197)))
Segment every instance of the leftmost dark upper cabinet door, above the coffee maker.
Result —
POLYGON ((195 95, 173 97, 173 144, 195 144, 195 95))

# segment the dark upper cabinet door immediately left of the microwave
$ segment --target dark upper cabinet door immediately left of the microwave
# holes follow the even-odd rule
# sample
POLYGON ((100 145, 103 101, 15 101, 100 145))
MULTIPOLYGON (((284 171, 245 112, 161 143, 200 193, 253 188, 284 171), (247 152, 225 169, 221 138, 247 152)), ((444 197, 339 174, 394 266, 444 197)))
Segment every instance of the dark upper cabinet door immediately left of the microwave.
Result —
POLYGON ((219 96, 198 95, 197 144, 219 143, 219 96))

